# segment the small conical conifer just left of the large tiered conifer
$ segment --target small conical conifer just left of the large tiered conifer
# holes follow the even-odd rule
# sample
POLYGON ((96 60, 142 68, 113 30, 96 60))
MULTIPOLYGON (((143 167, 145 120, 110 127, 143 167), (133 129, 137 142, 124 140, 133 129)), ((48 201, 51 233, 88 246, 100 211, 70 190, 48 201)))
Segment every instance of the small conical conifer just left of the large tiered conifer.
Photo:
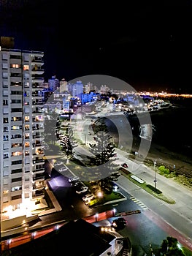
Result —
POLYGON ((77 146, 74 140, 73 130, 70 124, 66 127, 66 132, 64 138, 61 140, 61 151, 66 155, 66 164, 69 163, 69 159, 74 156, 74 147, 77 146))

